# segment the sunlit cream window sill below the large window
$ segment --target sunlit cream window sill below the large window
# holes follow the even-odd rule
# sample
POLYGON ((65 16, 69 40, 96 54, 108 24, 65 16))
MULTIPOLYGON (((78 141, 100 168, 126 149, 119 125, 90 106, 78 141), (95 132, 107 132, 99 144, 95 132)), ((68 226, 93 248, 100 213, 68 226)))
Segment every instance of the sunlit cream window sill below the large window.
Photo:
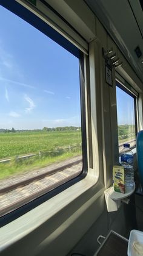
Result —
POLYGON ((105 190, 103 185, 99 182, 98 177, 95 176, 93 169, 89 170, 87 176, 80 182, 75 183, 75 185, 67 188, 67 190, 64 190, 51 199, 48 199, 48 201, 42 203, 30 212, 27 212, 18 219, 15 219, 15 221, 1 227, 0 251, 3 251, 6 247, 16 243, 16 241, 19 241, 21 238, 28 235, 30 232, 44 224, 44 222, 49 221, 52 216, 59 213, 71 202, 78 201, 78 197, 90 190, 90 188, 93 188, 95 184, 95 193, 90 199, 92 204, 92 201, 96 201, 96 199, 98 199, 105 190))

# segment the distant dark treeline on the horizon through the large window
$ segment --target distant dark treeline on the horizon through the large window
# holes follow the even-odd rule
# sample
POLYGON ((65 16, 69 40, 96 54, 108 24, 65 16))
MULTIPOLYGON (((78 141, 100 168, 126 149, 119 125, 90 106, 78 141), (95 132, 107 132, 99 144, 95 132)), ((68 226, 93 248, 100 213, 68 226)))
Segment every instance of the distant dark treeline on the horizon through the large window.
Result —
POLYGON ((21 130, 16 130, 15 128, 12 127, 12 129, 0 129, 1 132, 5 133, 10 133, 10 132, 55 132, 55 131, 62 131, 62 130, 81 130, 81 127, 76 127, 76 126, 63 126, 63 127, 44 127, 43 129, 21 129, 21 130))

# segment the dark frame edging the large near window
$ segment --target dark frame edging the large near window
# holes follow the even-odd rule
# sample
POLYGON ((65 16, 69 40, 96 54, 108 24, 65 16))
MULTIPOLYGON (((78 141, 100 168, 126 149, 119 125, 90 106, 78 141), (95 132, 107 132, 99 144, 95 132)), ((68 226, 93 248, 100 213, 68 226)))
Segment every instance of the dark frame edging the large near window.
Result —
POLYGON ((79 59, 79 79, 80 79, 80 100, 81 100, 81 133, 82 133, 82 171, 81 173, 71 179, 68 182, 59 185, 59 187, 54 188, 52 191, 48 191, 42 196, 32 199, 32 201, 25 203, 19 208, 16 208, 10 213, 1 216, 0 218, 0 227, 5 226, 9 222, 14 221, 25 213, 29 212, 38 205, 41 205, 48 199, 56 196, 67 188, 73 186, 75 183, 78 183, 80 180, 84 179, 87 176, 87 130, 86 130, 86 114, 85 114, 85 76, 84 76, 84 53, 79 50, 75 45, 73 45, 66 38, 62 37, 58 32, 56 32, 52 27, 47 23, 41 20, 38 16, 30 12, 28 9, 23 7, 16 1, 3 1, 0 0, 0 5, 5 7, 5 9, 10 10, 10 12, 22 18, 25 22, 28 22, 33 27, 36 27, 39 31, 50 37, 53 41, 56 41, 63 48, 67 49, 68 52, 75 55, 79 59), (41 29, 42 27, 42 29, 41 29), (49 35, 48 35, 49 33, 49 35))

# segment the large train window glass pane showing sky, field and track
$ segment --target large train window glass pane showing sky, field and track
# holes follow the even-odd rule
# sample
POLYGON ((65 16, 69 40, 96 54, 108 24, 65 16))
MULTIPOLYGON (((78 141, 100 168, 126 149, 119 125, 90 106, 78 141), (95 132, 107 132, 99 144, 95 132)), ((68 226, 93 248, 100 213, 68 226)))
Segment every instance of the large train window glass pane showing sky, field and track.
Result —
POLYGON ((0 24, 3 215, 78 176, 82 141, 79 59, 3 7, 0 24))

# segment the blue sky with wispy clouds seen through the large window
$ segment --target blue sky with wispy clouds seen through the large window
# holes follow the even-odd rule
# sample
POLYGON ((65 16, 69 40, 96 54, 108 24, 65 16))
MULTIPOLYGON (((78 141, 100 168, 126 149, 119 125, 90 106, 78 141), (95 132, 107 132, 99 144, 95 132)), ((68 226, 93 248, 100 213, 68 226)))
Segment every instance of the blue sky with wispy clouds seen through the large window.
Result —
POLYGON ((0 128, 81 126, 79 60, 0 6, 0 128))

